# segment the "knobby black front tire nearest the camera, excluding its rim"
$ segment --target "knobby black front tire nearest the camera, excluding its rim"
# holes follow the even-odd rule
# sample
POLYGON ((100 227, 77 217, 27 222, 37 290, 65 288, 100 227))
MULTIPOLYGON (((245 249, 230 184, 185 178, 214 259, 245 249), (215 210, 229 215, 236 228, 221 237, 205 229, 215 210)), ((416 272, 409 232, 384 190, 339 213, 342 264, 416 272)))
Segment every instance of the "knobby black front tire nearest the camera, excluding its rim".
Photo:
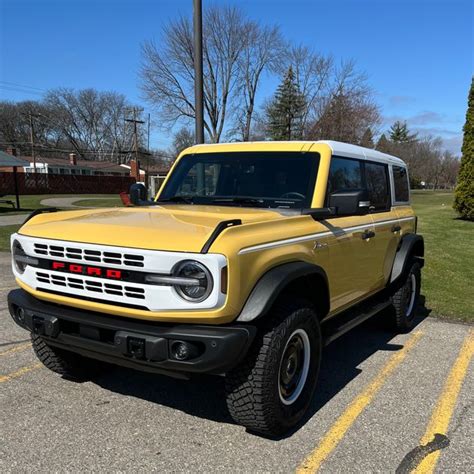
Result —
POLYGON ((321 331, 312 305, 284 298, 266 316, 256 339, 239 366, 226 376, 230 415, 250 431, 278 436, 294 427, 305 415, 313 397, 321 360, 321 331), (280 364, 290 337, 303 330, 310 344, 306 382, 290 405, 281 400, 280 364))

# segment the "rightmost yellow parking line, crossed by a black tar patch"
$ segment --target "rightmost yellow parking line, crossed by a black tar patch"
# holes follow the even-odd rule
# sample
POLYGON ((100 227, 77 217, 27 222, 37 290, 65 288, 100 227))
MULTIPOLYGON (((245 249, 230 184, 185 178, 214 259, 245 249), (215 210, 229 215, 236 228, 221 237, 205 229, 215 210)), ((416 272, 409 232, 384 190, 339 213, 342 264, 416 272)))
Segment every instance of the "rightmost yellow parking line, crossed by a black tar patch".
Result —
MULTIPOLYGON (((456 406, 456 401, 462 387, 462 383, 469 368, 469 362, 474 354, 474 331, 471 329, 466 336, 454 362, 451 372, 446 379, 443 391, 431 415, 426 432, 421 438, 421 445, 429 443, 435 434, 444 434, 448 431, 449 422, 456 406)), ((434 451, 426 456, 413 470, 416 473, 431 473, 436 467, 441 451, 434 451)))

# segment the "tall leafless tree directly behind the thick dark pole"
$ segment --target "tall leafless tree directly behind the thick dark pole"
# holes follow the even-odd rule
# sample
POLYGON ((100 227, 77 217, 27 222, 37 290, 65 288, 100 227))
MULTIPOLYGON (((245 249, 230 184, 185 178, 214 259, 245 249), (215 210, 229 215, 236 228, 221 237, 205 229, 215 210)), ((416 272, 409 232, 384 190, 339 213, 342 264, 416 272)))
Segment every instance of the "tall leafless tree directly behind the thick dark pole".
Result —
MULTIPOLYGON (((218 142, 228 119, 239 78, 238 61, 245 47, 247 23, 235 7, 213 6, 204 12, 204 127, 212 142, 218 142)), ((159 46, 142 45, 141 88, 164 125, 193 119, 194 49, 189 18, 170 22, 159 46)))

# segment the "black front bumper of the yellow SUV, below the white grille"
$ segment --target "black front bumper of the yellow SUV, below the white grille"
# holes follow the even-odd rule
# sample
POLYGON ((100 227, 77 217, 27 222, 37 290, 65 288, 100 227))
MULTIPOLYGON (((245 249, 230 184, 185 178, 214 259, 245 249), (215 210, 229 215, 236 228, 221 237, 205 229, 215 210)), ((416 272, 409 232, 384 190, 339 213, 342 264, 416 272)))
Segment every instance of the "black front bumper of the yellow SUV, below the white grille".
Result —
POLYGON ((246 355, 256 332, 247 325, 157 324, 93 313, 45 303, 21 289, 8 294, 8 307, 19 326, 40 334, 51 346, 176 377, 227 372, 246 355), (189 360, 173 358, 176 341, 191 344, 195 355, 189 360))

